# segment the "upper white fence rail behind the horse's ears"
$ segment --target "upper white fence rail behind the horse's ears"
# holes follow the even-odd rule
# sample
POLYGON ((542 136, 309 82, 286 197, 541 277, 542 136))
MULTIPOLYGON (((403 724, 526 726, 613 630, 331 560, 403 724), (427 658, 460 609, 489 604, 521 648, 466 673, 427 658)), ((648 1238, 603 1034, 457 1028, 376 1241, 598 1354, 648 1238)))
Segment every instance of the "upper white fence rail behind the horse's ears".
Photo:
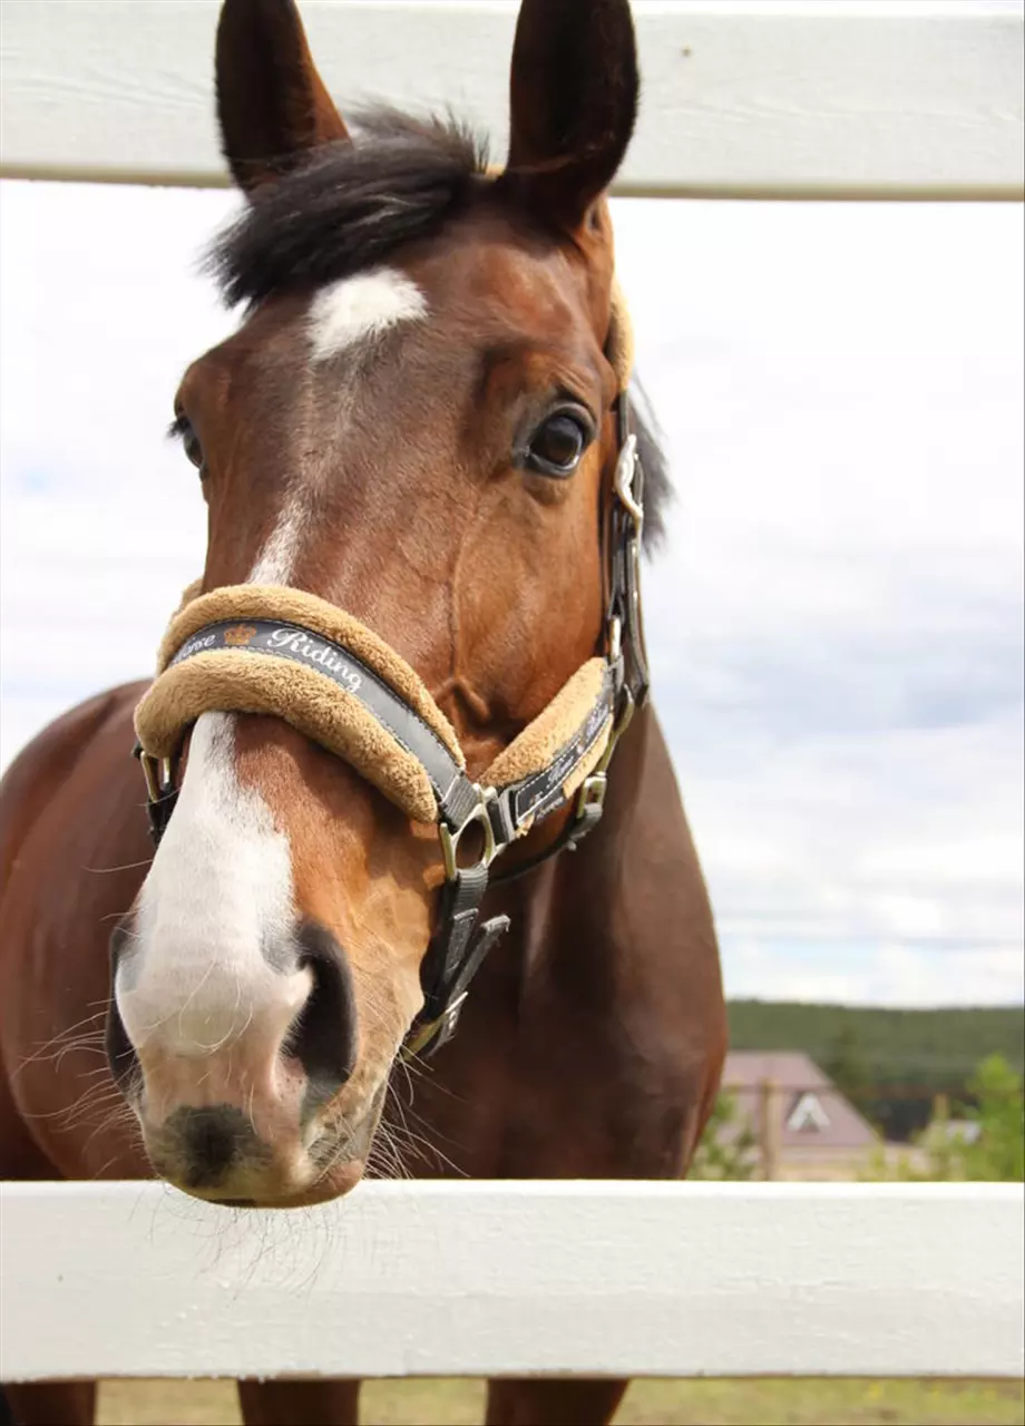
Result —
MULTIPOLYGON (((517 6, 302 0, 332 93, 458 111, 505 150, 517 6)), ((218 0, 3 0, 0 173, 227 183, 218 0)), ((1006 0, 634 3, 644 96, 617 191, 1021 198, 1025 19, 1006 0)))

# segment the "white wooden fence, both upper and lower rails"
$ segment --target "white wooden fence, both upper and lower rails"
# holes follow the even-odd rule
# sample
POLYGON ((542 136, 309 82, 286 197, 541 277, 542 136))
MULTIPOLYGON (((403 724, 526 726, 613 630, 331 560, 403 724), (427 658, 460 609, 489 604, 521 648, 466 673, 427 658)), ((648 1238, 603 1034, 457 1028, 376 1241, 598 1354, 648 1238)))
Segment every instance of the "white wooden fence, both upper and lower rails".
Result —
MULTIPOLYGON (((500 154, 515 4, 307 0, 341 97, 500 154)), ((1019 4, 637 3, 623 194, 1018 200, 1019 4)), ((224 181, 215 0, 3 0, 0 173, 224 181)), ((298 1215, 0 1189, 0 1379, 1019 1376, 1019 1185, 372 1184, 298 1215)))

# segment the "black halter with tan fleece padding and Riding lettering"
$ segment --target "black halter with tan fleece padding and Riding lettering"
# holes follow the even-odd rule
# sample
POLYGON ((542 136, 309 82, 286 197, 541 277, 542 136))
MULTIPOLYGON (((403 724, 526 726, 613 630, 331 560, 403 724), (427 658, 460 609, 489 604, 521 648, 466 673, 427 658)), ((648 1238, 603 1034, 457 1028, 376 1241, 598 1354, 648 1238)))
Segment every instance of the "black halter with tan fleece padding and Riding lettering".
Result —
POLYGON ((649 689, 640 619, 644 473, 620 391, 619 453, 606 515, 604 652, 470 781, 455 732, 416 672, 351 615, 289 589, 238 585, 182 606, 160 672, 135 710, 138 757, 155 846, 178 797, 185 733, 204 712, 271 713, 349 761, 413 820, 436 823, 445 864, 438 928, 421 965, 423 1007, 403 1054, 452 1038, 469 984, 509 928, 480 921, 489 883, 509 881, 565 848, 602 817, 612 754, 649 689), (291 617, 291 616, 295 617, 291 617), (539 856, 502 873, 495 860, 553 813, 573 807, 539 856), (459 848, 475 829, 476 860, 459 848))

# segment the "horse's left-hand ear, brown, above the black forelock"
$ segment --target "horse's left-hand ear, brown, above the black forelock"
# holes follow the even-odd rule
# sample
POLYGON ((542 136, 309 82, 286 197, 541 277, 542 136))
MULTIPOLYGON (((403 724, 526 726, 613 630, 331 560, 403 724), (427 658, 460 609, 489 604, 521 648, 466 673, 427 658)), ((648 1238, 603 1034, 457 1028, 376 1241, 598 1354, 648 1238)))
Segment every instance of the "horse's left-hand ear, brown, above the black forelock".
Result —
POLYGON ((348 131, 294 0, 224 0, 217 26, 221 147, 247 193, 348 131))

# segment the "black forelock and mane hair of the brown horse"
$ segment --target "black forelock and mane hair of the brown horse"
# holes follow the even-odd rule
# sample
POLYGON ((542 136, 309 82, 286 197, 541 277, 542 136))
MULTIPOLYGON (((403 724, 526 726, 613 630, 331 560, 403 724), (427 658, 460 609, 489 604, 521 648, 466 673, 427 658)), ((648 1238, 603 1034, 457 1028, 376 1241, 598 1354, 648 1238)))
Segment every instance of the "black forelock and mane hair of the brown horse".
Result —
MULTIPOLYGON (((453 118, 365 111, 355 143, 319 148, 278 183, 258 188, 214 241, 205 267, 228 307, 248 309, 297 288, 324 287, 429 238, 488 181, 488 145, 453 118)), ((643 392, 632 392, 646 475, 649 549, 671 496, 666 458, 643 392)))

